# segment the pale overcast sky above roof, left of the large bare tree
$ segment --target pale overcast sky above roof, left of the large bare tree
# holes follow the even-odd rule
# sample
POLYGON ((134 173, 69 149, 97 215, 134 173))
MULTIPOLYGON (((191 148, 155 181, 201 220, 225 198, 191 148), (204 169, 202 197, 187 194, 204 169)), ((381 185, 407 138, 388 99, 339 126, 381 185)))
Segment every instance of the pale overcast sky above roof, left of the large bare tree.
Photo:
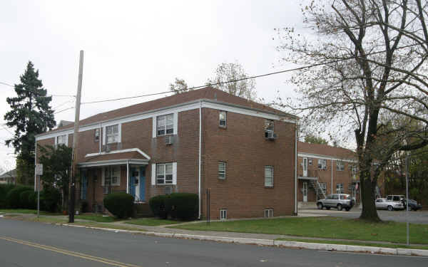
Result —
MULTIPOLYGON (((32 61, 53 95, 76 95, 84 51, 82 102, 168 91, 183 78, 204 85, 220 63, 240 63, 248 75, 292 68, 281 61, 274 28, 302 28, 300 1, 1 1, 0 82, 14 85, 32 61)), ((255 80, 266 102, 293 94, 289 74, 255 80), (278 93, 279 92, 279 93, 278 93)), ((14 167, 13 129, 4 123, 0 84, 0 167, 14 167)), ((81 106, 81 119, 154 98, 81 106)), ((74 120, 75 99, 54 96, 56 122, 74 120), (68 109, 68 110, 67 110, 68 109), (60 112, 61 110, 65 110, 60 112)))

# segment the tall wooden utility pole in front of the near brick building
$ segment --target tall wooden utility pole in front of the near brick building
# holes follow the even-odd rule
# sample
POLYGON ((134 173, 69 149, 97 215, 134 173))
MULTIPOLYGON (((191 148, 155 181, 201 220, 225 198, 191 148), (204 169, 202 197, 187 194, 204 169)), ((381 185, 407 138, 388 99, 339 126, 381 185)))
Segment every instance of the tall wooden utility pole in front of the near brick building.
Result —
POLYGON ((70 198, 68 202, 68 222, 74 222, 74 202, 76 199, 76 173, 77 173, 77 150, 78 150, 78 122, 80 117, 80 102, 82 93, 82 76, 83 76, 83 50, 80 51, 80 60, 78 63, 78 82, 76 95, 76 115, 74 116, 73 131, 73 152, 71 155, 71 179, 69 184, 70 198))

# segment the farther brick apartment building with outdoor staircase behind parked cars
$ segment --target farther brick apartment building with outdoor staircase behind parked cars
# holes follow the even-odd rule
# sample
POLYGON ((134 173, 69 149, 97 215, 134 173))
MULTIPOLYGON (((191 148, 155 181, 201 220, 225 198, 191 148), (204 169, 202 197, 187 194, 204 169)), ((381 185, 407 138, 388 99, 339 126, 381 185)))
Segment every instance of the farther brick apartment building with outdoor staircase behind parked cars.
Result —
POLYGON ((355 152, 306 142, 298 142, 297 150, 297 201, 315 202, 335 193, 360 200, 355 152))

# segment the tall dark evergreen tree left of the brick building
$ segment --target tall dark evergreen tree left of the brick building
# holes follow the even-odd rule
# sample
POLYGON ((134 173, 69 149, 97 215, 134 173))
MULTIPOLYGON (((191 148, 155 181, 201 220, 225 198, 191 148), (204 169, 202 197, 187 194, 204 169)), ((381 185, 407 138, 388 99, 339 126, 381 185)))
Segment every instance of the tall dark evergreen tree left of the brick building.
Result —
POLYGON ((19 154, 18 181, 24 184, 34 183, 34 150, 36 135, 51 130, 55 126, 54 110, 49 103, 52 98, 46 96, 46 89, 39 80, 39 70, 29 61, 21 83, 15 85, 16 97, 6 98, 11 110, 6 112, 4 120, 8 127, 15 127, 15 135, 6 140, 19 154), (21 167, 21 169, 19 169, 21 167))

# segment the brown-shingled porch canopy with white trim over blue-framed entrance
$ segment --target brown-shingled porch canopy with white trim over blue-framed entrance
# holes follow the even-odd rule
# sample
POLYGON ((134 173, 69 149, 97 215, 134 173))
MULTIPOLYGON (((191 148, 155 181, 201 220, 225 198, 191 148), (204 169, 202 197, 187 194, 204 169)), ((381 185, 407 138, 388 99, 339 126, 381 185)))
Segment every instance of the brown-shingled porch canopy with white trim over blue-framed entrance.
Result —
POLYGON ((79 167, 97 167, 118 164, 147 165, 151 158, 138 148, 114 150, 112 152, 92 153, 78 162, 79 167))

